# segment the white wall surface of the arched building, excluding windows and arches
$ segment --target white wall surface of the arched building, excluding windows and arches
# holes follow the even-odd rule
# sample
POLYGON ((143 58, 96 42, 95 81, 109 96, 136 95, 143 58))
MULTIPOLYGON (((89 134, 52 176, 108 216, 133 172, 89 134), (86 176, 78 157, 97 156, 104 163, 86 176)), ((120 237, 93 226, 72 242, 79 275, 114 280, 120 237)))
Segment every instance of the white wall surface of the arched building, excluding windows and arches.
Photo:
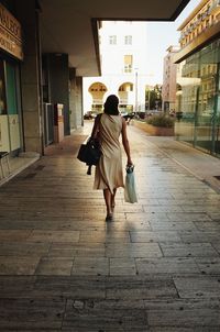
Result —
POLYGON ((146 23, 145 22, 102 22, 100 34, 101 77, 84 78, 84 112, 91 110, 91 96, 88 89, 94 82, 103 82, 108 91, 105 96, 118 95, 124 82, 133 84, 130 101, 135 106, 135 86, 138 82, 139 109, 144 111, 145 86, 150 78, 146 75, 146 23), (117 36, 117 45, 109 43, 109 36, 117 36), (124 44, 124 36, 132 36, 132 45, 124 44), (124 73, 124 55, 133 56, 133 71, 124 73), (138 77, 136 77, 138 73, 138 77))

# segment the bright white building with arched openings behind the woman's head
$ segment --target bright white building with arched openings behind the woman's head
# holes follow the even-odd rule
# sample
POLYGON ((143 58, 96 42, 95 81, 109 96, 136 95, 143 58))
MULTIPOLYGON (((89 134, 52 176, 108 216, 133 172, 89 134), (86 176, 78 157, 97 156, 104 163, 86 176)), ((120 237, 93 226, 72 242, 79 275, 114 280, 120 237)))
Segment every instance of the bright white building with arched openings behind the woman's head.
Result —
POLYGON ((99 36, 102 76, 84 78, 84 112, 101 111, 111 93, 119 97, 121 111, 144 112, 146 23, 105 21, 99 36))

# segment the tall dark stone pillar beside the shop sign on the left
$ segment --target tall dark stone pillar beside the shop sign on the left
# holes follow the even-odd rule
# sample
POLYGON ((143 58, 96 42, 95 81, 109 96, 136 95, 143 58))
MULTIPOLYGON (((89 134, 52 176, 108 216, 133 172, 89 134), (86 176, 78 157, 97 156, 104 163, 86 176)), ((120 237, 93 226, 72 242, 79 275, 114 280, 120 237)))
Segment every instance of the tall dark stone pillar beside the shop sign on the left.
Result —
POLYGON ((40 13, 36 5, 35 0, 16 1, 24 36, 24 62, 21 64, 24 150, 43 154, 40 13))

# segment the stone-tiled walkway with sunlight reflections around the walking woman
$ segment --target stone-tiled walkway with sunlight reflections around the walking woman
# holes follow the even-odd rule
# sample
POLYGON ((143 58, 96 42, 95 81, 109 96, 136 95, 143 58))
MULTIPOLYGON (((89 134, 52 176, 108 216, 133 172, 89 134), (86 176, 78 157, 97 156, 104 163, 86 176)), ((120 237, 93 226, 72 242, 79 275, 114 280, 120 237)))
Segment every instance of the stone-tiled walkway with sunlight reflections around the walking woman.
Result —
POLYGON ((219 332, 220 161, 129 125, 139 202, 106 223, 90 129, 0 187, 0 331, 219 332))

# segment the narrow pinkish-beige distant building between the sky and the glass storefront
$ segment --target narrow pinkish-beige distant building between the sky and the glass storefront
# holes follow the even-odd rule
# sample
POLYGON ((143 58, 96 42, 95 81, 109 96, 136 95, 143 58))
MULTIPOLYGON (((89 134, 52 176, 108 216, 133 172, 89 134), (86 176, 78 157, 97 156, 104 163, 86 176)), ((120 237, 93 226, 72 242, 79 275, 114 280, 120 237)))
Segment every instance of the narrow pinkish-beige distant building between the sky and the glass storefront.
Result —
POLYGON ((164 57, 162 100, 163 110, 170 111, 175 110, 178 65, 174 63, 174 56, 179 51, 179 46, 169 46, 166 51, 167 55, 164 57))

